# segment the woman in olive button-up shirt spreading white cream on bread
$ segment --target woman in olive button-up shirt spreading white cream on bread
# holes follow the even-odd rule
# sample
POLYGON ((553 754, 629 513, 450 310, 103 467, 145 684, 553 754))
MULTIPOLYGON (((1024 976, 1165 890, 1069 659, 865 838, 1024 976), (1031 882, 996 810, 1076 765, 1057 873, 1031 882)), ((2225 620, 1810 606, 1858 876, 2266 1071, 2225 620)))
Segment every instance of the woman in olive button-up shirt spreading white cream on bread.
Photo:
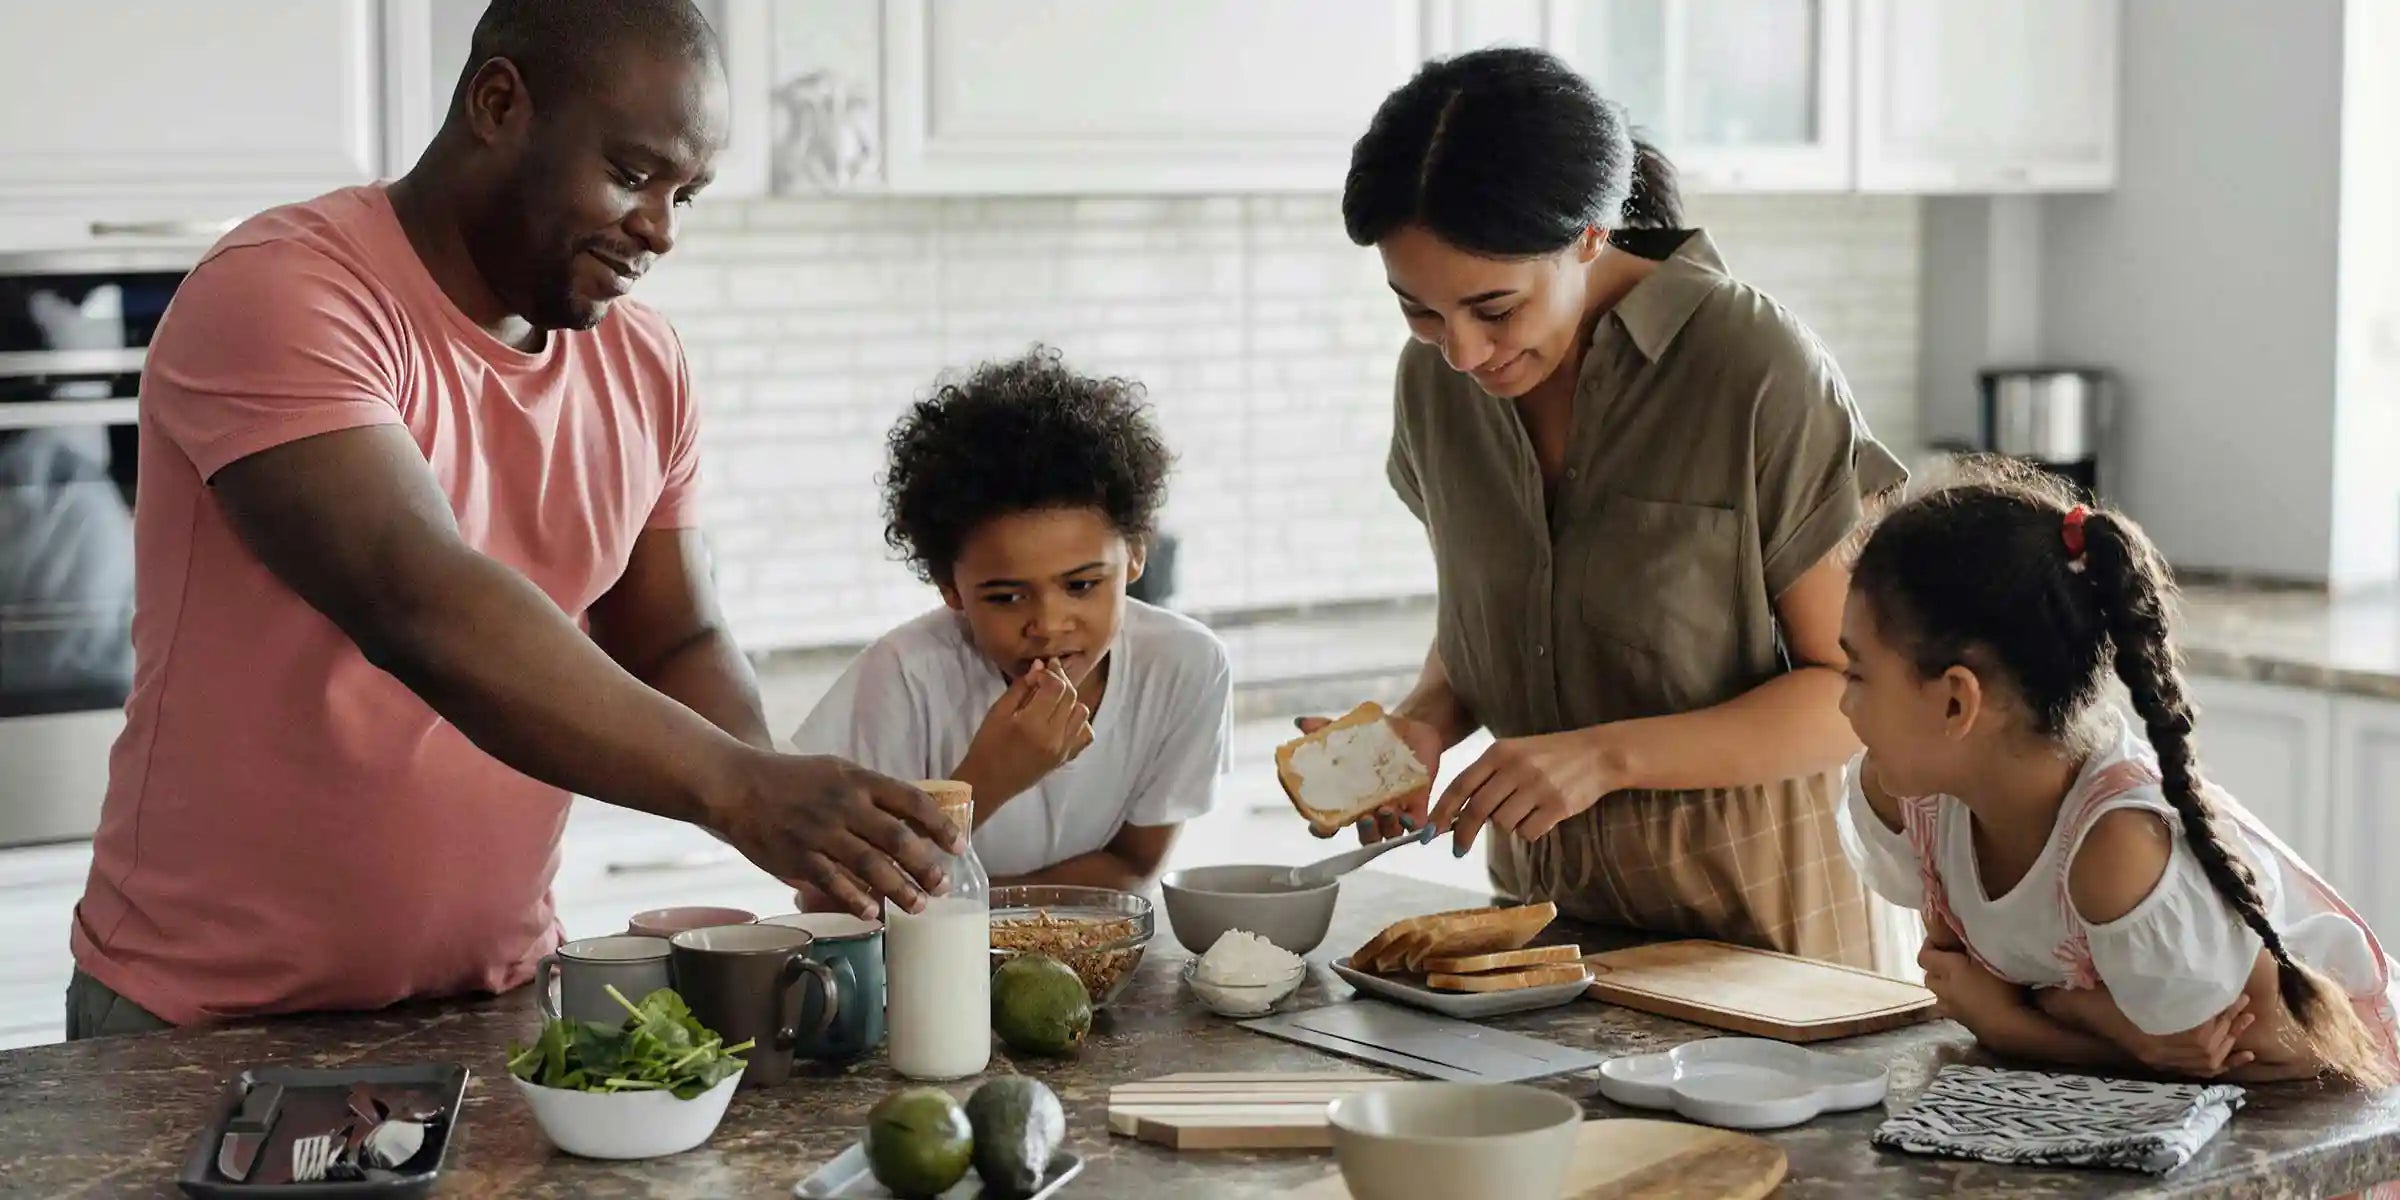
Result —
POLYGON ((1836 547, 1906 475, 1824 346, 1675 228, 1668 163, 1541 50, 1385 98, 1342 216, 1414 336, 1390 478, 1440 619, 1397 713, 1428 763, 1498 739, 1411 823, 1572 917, 1870 965, 1836 547))

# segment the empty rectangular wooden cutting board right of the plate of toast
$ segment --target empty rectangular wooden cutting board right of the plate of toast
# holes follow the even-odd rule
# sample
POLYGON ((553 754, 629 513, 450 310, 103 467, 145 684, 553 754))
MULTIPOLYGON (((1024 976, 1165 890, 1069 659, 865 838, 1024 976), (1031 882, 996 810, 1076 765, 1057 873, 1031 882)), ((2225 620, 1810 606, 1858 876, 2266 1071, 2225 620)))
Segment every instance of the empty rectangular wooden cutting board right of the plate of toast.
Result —
POLYGON ((1723 941, 1586 955, 1586 996, 1714 1030, 1826 1042, 1932 1018, 1934 994, 1884 974, 1723 941))

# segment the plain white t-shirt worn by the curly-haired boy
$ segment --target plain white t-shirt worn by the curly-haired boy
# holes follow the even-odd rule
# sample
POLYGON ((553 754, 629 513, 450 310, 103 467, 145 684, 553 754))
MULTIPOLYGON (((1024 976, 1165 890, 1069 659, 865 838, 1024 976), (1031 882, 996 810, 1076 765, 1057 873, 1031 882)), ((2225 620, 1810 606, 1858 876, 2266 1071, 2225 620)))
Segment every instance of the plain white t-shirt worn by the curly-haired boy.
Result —
MULTIPOLYGON (((946 778, 1003 691, 967 622, 938 607, 869 646, 792 732, 792 749, 902 780, 946 778)), ((1109 845, 1121 826, 1205 814, 1231 770, 1231 696, 1217 634, 1128 598, 1092 744, 974 830, 984 871, 1022 876, 1109 845)))

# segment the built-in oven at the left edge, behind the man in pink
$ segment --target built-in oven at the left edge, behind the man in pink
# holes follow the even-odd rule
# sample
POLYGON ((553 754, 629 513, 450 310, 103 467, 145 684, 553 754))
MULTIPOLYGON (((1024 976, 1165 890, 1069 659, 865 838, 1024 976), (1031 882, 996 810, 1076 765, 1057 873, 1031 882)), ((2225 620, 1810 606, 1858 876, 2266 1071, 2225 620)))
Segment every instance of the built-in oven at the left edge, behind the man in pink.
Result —
POLYGON ((0 845, 98 823, 134 672, 142 355, 197 259, 0 252, 0 845))

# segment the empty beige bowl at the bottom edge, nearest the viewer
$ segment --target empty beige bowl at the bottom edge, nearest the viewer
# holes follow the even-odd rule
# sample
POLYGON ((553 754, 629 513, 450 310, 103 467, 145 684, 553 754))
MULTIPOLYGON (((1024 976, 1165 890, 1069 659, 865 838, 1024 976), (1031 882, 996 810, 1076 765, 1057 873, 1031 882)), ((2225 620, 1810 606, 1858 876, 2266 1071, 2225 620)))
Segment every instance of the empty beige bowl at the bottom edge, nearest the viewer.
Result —
POLYGON ((1517 1082, 1394 1082, 1332 1102, 1356 1200, 1529 1200, 1567 1190, 1584 1106, 1517 1082))

